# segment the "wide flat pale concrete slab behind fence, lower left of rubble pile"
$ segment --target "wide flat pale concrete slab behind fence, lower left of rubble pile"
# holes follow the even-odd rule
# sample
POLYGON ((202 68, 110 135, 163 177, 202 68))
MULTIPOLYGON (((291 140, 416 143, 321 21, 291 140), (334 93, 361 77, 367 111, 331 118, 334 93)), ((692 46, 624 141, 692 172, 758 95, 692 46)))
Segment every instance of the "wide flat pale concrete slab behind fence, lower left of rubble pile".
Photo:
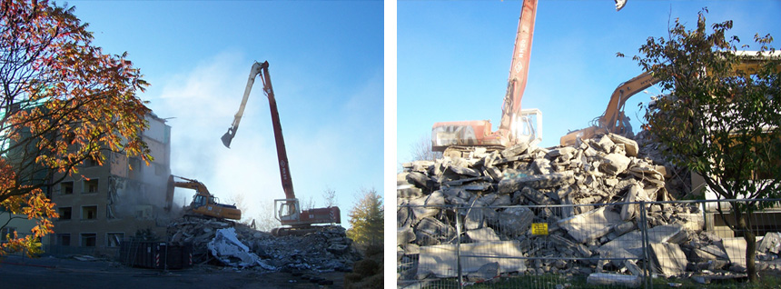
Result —
MULTIPOLYGON (((461 244, 461 272, 476 272, 485 264, 499 263, 500 273, 526 271, 525 260, 507 258, 524 256, 518 241, 481 242, 461 244), (466 255, 494 255, 497 257, 466 257, 466 255)), ((431 272, 440 278, 457 277, 455 244, 439 244, 420 247, 418 272, 431 272)))

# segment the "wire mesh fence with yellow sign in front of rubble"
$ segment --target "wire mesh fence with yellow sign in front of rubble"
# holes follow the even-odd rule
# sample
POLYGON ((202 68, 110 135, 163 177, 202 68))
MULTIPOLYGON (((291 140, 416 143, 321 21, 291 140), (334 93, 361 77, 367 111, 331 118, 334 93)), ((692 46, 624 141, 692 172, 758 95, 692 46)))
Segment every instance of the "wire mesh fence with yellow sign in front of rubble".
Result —
POLYGON ((402 205, 397 286, 666 288, 746 282, 748 232, 756 235, 757 272, 781 272, 779 204, 781 199, 402 205), (748 229, 730 227, 737 222, 730 208, 746 205, 754 208, 748 229))

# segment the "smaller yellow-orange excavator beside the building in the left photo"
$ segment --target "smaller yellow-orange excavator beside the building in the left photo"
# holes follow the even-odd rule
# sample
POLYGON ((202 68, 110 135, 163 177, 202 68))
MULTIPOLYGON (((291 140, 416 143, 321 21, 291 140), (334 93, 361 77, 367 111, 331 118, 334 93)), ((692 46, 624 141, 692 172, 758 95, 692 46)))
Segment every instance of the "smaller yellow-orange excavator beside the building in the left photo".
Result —
MULTIPOLYGON (((206 185, 198 182, 198 180, 188 179, 173 174, 170 175, 168 177, 168 194, 166 200, 173 200, 174 187, 195 190, 193 202, 185 209, 185 216, 212 217, 230 220, 242 219, 242 210, 239 210, 232 204, 220 204, 220 199, 209 193, 209 189, 206 188, 206 185), (182 181, 176 181, 175 179, 181 179, 182 181)), ((168 208, 170 208, 170 204, 168 208)))

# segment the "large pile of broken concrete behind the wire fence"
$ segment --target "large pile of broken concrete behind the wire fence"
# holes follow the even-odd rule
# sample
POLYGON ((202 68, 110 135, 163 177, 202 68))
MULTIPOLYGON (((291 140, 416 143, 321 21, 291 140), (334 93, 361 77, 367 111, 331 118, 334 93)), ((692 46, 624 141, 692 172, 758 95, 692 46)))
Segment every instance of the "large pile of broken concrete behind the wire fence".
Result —
MULTIPOLYGON (((639 204, 620 203, 667 201, 686 189, 675 177, 680 171, 660 163, 655 149, 650 142, 598 135, 574 146, 520 144, 490 153, 478 148, 465 157, 402 164, 398 278, 456 276, 457 219, 462 255, 544 257, 462 258, 463 274, 480 276, 470 282, 485 279, 485 272, 518 272, 594 274, 595 284, 618 280, 631 286, 638 278, 621 275, 639 276, 645 265, 654 274, 671 276, 745 272, 730 262, 726 242, 703 231, 702 211, 686 204, 646 208, 650 260, 644 260, 639 204), (533 234, 537 223, 548 224, 548 234, 533 234)), ((781 236, 769 239, 758 246, 757 259, 777 258, 781 236)))

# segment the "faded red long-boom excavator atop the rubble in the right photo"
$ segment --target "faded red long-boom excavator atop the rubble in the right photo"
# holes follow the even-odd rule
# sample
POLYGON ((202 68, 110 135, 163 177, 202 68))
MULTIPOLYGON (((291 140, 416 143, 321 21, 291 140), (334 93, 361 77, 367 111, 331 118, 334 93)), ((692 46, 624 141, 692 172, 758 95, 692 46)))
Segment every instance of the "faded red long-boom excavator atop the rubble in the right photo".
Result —
MULTIPOLYGON (((499 129, 491 132, 489 120, 436 123, 431 128, 433 151, 443 152, 448 156, 461 156, 470 154, 477 147, 493 151, 541 139, 542 125, 539 110, 521 110, 520 106, 529 75, 537 2, 537 0, 524 0, 520 11, 499 129)), ((615 0, 615 2, 617 11, 626 5, 626 0, 615 0)))

